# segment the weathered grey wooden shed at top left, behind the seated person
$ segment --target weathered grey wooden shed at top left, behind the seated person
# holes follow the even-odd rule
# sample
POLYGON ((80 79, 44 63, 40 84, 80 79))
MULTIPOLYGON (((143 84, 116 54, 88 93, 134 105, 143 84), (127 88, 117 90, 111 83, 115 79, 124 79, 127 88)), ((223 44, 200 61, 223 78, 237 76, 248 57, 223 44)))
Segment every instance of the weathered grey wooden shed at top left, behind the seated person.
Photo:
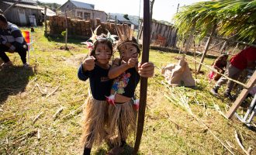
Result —
MULTIPOLYGON (((13 5, 17 0, 0 1, 0 9, 4 12, 5 9, 13 5)), ((38 26, 42 25, 41 8, 36 5, 33 0, 21 0, 14 7, 5 13, 5 17, 9 22, 18 26, 38 26)))

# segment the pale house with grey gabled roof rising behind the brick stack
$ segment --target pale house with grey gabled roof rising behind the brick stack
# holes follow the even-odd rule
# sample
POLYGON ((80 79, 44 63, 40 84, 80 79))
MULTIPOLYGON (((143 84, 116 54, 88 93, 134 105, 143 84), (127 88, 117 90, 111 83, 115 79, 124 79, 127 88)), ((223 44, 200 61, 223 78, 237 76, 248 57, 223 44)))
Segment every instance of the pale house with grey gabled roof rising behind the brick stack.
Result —
POLYGON ((101 22, 107 22, 108 15, 106 12, 95 10, 95 5, 85 2, 76 2, 68 0, 59 8, 61 12, 67 12, 68 16, 77 17, 78 19, 101 19, 101 22))

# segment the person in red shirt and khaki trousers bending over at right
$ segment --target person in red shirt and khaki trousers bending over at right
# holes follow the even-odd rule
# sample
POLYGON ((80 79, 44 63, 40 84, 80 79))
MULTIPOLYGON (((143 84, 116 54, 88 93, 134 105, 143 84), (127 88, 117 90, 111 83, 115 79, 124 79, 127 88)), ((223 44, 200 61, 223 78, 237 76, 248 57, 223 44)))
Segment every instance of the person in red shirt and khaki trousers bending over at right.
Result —
MULTIPOLYGON (((230 59, 230 64, 227 67, 227 70, 225 71, 225 75, 227 77, 230 77, 234 80, 237 80, 242 71, 246 68, 252 68, 255 67, 255 61, 256 61, 256 48, 255 47, 247 47, 246 49, 240 51, 240 53, 237 53, 234 57, 230 59)), ((226 77, 220 77, 220 79, 216 82, 214 88, 211 90, 211 93, 213 95, 219 95, 218 90, 227 82, 226 77)), ((232 89, 234 88, 234 82, 228 81, 227 82, 227 88, 224 93, 224 96, 227 98, 230 98, 231 100, 234 100, 234 97, 230 94, 232 89)))

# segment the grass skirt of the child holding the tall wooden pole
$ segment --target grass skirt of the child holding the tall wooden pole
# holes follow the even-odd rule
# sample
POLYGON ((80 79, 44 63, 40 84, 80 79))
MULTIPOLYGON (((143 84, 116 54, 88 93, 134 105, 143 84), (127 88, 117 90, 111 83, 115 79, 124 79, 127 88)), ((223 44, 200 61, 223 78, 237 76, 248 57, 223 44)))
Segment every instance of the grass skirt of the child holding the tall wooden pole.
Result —
POLYGON ((116 145, 127 136, 133 135, 137 124, 137 111, 133 108, 133 101, 123 104, 109 105, 108 138, 116 145))

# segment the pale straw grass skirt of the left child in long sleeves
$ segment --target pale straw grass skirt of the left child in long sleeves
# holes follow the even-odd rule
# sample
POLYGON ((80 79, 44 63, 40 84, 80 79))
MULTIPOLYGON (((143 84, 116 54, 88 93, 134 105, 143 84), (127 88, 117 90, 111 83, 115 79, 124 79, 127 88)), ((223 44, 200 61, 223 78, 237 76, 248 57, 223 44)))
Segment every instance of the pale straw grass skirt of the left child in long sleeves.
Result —
POLYGON ((85 102, 81 141, 87 148, 92 148, 92 144, 99 145, 106 138, 108 103, 92 97, 85 102))

